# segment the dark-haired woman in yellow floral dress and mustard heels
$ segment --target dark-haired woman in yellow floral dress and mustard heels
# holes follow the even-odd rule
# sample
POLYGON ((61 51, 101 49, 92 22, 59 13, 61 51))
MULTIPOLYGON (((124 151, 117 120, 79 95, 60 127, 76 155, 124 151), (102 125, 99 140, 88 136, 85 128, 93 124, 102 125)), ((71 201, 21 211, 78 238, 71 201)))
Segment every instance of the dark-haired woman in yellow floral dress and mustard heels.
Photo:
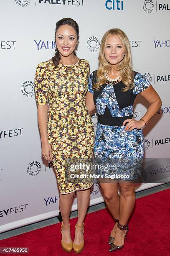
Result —
POLYGON ((56 23, 56 54, 38 64, 35 92, 43 158, 53 161, 58 187, 62 248, 79 253, 84 248, 84 217, 93 180, 68 179, 67 159, 91 159, 94 128, 85 103, 88 89, 89 62, 76 56, 79 27, 71 18, 56 23), (48 108, 49 105, 49 108, 48 108), (69 215, 77 190, 78 222, 74 243, 71 240, 69 215))

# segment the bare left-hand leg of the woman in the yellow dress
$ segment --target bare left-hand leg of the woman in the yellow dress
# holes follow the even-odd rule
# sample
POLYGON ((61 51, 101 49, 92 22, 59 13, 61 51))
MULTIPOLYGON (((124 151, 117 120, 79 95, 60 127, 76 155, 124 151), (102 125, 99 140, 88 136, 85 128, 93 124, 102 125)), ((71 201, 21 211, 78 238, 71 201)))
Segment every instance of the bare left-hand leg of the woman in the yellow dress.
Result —
MULTIPOLYGON (((63 219, 63 226, 65 227, 69 226, 69 216, 73 200, 74 192, 65 195, 60 194, 59 207, 63 219)), ((62 241, 65 243, 71 242, 70 228, 62 228, 62 241)))

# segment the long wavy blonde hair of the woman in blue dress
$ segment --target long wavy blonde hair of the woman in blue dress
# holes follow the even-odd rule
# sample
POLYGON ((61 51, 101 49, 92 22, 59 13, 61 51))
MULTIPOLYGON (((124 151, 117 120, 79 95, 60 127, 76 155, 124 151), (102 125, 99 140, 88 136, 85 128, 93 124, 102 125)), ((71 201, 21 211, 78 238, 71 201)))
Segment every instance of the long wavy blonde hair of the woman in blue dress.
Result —
POLYGON ((122 82, 125 84, 125 87, 123 89, 123 91, 125 92, 129 89, 132 89, 134 78, 132 71, 132 57, 129 39, 127 38, 127 35, 119 28, 112 28, 108 30, 101 39, 100 52, 98 58, 99 69, 96 72, 96 83, 93 84, 93 89, 100 90, 101 85, 106 82, 106 77, 104 76, 104 74, 112 69, 109 62, 104 56, 104 49, 107 43, 107 39, 109 38, 109 36, 113 35, 119 36, 125 51, 124 58, 116 66, 117 71, 120 72, 120 75, 122 77, 122 82))

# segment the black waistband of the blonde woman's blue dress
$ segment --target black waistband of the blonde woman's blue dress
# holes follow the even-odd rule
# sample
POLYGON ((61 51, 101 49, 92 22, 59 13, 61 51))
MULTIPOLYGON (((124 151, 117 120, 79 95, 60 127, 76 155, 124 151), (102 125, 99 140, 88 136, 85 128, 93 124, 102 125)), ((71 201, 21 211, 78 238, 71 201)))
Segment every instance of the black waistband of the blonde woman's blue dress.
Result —
POLYGON ((107 118, 105 115, 97 115, 98 123, 102 125, 110 125, 110 126, 122 126, 122 123, 124 122, 124 120, 132 119, 132 117, 133 115, 107 118))

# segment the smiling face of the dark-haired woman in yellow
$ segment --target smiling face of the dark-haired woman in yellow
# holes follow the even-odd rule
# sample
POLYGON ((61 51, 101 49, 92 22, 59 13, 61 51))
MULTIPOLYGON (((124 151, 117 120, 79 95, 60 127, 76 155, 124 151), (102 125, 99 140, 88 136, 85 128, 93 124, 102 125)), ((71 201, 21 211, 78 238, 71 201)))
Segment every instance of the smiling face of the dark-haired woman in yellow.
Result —
POLYGON ((56 32, 56 46, 59 53, 67 57, 72 54, 76 48, 77 35, 74 28, 69 25, 62 25, 56 32))

